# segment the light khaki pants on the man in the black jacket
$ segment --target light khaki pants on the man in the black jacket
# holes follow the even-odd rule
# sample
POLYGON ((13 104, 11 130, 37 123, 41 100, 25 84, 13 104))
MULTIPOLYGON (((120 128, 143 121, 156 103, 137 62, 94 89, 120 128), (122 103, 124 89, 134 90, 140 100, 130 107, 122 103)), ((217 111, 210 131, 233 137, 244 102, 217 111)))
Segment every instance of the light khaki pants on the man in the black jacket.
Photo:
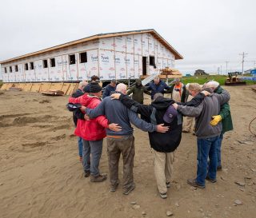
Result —
POLYGON ((170 182, 173 172, 174 153, 158 153, 153 149, 154 154, 154 176, 158 184, 158 191, 166 193, 166 182, 170 182))

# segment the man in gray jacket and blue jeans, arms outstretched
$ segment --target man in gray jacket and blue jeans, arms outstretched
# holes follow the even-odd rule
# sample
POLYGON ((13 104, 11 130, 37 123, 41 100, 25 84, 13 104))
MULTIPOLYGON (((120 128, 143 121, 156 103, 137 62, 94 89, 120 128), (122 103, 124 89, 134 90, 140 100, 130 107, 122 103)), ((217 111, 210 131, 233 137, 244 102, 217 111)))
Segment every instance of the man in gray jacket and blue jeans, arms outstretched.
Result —
MULTIPOLYGON (((195 97, 201 91, 201 85, 191 83, 189 85, 190 94, 195 97)), ((205 188, 205 180, 215 183, 217 172, 217 145, 219 135, 222 132, 222 124, 210 125, 210 121, 215 114, 220 111, 220 106, 230 100, 230 94, 225 90, 221 94, 213 93, 207 89, 210 95, 205 97, 197 107, 174 104, 174 107, 185 116, 196 117, 195 134, 198 137, 198 169, 195 179, 188 179, 187 183, 198 188, 205 188), (207 159, 210 158, 207 170, 207 159)))

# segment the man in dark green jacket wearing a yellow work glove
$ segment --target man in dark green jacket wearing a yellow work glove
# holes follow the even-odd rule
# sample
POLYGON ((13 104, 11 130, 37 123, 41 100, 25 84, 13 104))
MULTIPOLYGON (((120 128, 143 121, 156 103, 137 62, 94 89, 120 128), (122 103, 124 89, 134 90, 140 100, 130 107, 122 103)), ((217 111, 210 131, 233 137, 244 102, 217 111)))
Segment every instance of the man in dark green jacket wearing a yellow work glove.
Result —
MULTIPOLYGON (((204 85, 205 88, 211 88, 214 90, 214 93, 221 94, 224 89, 219 85, 218 81, 208 81, 204 85)), ((221 105, 220 112, 215 116, 212 117, 213 120, 210 121, 210 125, 218 125, 218 122, 222 122, 222 133, 220 134, 218 145, 217 145, 217 159, 218 159, 218 165, 217 170, 222 170, 222 140, 224 133, 233 130, 233 123, 230 113, 230 105, 228 102, 221 105)))

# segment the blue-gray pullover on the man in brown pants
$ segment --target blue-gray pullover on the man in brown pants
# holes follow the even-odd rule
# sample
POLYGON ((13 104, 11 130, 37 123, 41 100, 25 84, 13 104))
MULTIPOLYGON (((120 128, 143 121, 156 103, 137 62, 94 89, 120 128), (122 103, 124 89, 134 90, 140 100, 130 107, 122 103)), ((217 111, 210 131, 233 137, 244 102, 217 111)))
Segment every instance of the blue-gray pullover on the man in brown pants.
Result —
POLYGON ((115 123, 122 127, 120 132, 113 132, 110 129, 106 129, 106 134, 109 136, 129 136, 133 134, 134 130, 130 122, 145 132, 152 133, 157 130, 156 125, 142 121, 142 119, 138 118, 137 113, 127 109, 125 105, 122 105, 121 101, 111 100, 111 97, 105 97, 95 109, 87 108, 86 114, 90 118, 105 115, 110 123, 115 123))

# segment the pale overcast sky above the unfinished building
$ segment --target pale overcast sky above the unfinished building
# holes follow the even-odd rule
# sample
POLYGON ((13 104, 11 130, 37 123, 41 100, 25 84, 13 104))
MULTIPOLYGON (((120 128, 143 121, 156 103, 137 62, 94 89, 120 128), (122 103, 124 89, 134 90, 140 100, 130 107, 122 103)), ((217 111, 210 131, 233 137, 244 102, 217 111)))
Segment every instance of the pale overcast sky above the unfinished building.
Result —
MULTIPOLYGON (((0 60, 94 34, 154 29, 182 73, 256 67, 255 0, 0 0, 0 60)), ((0 76, 1 77, 1 76, 0 76)))

